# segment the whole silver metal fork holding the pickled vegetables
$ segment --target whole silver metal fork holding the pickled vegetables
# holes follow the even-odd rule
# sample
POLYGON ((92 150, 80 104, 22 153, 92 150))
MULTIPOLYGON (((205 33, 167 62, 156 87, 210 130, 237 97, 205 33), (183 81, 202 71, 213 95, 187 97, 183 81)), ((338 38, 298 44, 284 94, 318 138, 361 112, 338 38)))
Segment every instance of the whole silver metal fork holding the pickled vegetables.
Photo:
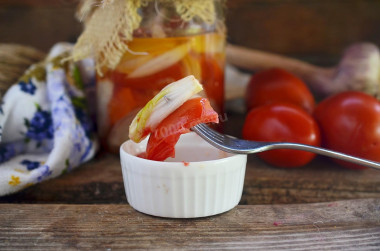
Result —
POLYGON ((345 161, 350 161, 355 164, 368 166, 377 170, 380 170, 380 163, 366 160, 362 158, 357 158, 351 155, 347 155, 340 152, 335 152, 327 150, 320 147, 289 143, 289 142, 259 142, 259 141, 249 141, 238 139, 229 135, 221 134, 205 124, 198 124, 191 128, 192 131, 196 132, 200 137, 206 140, 211 145, 216 148, 229 153, 237 154, 249 154, 249 153, 259 153, 274 149, 296 149, 308 152, 313 152, 320 155, 325 155, 332 158, 337 158, 345 161))

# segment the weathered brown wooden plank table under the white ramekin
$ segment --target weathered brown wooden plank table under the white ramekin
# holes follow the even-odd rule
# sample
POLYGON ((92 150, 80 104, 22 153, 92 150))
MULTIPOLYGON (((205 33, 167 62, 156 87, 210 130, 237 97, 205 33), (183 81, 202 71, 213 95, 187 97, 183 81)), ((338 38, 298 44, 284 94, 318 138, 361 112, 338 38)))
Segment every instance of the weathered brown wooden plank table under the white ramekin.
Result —
MULTIPOLYGON (((239 136, 243 115, 228 113, 239 136)), ((53 180, 0 198, 0 249, 378 250, 380 172, 354 171, 318 157, 298 169, 249 156, 233 210, 200 219, 135 211, 119 157, 98 156, 53 180)))

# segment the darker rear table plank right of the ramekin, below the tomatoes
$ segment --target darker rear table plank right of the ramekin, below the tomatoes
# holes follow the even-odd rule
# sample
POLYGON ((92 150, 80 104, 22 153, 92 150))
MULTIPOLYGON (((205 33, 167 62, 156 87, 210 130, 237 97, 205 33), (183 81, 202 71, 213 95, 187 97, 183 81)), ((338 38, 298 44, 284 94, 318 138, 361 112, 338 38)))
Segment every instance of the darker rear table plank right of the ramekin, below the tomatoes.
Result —
POLYGON ((261 164, 257 159, 249 164, 243 205, 380 198, 380 172, 376 170, 347 170, 323 158, 300 169, 261 164))

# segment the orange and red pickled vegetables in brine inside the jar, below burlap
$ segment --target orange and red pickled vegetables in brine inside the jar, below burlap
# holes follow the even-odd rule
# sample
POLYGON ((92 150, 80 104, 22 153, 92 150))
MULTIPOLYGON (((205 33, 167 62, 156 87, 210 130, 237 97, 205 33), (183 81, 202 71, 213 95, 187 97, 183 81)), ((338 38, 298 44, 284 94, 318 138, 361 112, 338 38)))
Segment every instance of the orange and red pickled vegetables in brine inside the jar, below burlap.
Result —
POLYGON ((204 87, 201 95, 210 100, 215 111, 223 112, 223 32, 161 37, 151 32, 141 34, 135 31, 115 69, 98 76, 98 131, 103 145, 111 151, 117 151, 128 139, 130 123, 150 99, 167 84, 188 75, 200 81, 204 87))

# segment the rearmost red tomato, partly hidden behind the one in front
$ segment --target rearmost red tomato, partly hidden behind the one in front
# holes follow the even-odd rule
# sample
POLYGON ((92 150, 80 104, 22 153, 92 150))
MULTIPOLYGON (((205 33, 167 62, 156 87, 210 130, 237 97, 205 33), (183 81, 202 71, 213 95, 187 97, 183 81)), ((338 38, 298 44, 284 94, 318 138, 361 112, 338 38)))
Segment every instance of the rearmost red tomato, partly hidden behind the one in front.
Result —
POLYGON ((278 68, 254 74, 247 87, 247 109, 277 102, 300 106, 308 113, 315 107, 310 90, 293 74, 278 68))

